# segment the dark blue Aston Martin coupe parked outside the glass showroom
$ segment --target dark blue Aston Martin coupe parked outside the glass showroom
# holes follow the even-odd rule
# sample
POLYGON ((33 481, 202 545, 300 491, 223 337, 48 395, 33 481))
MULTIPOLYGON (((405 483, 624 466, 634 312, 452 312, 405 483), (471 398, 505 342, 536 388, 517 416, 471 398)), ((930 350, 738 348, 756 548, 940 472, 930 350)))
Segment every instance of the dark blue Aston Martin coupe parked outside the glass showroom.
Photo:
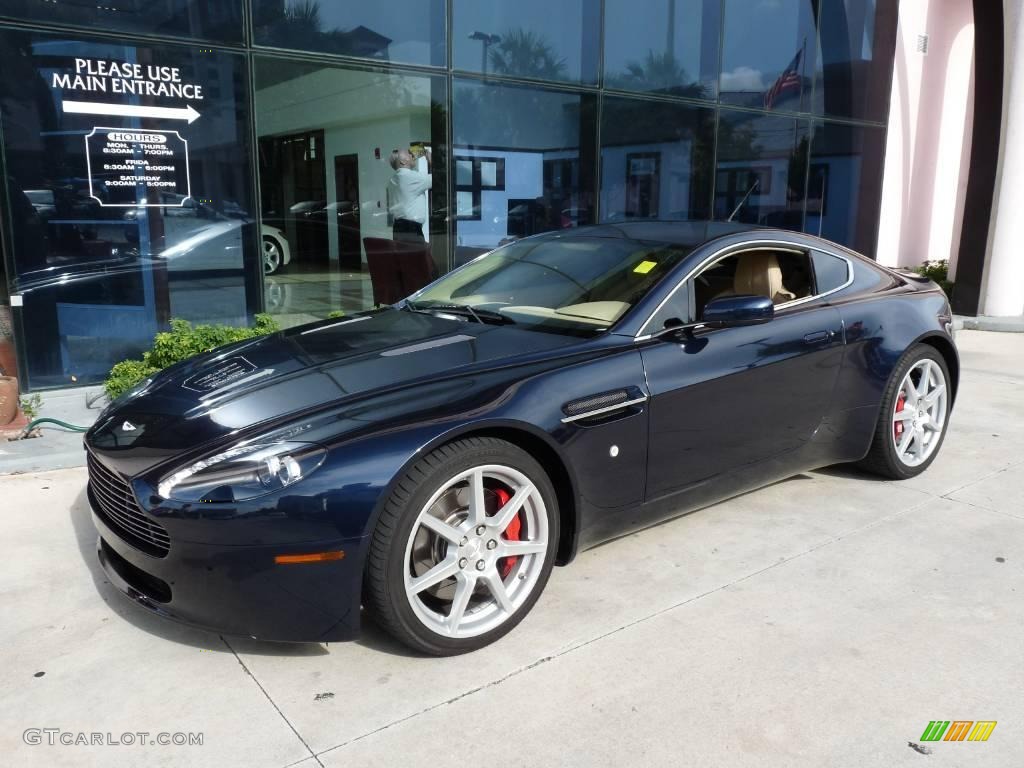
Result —
POLYGON ((86 437, 99 557, 219 632, 340 640, 365 608, 461 653, 586 547, 816 467, 919 474, 958 371, 933 283, 812 237, 542 234, 114 402, 86 437))

